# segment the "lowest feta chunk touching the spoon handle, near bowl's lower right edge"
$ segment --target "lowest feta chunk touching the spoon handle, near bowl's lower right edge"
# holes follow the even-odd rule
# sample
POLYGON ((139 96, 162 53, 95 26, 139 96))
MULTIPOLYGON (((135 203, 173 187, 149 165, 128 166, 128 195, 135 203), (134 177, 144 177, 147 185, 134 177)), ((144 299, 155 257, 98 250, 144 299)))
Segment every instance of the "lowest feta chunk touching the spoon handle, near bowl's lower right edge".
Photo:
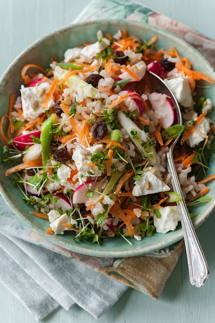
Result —
POLYGON ((159 210, 161 217, 153 216, 154 226, 159 233, 174 231, 180 221, 178 206, 165 206, 159 210))

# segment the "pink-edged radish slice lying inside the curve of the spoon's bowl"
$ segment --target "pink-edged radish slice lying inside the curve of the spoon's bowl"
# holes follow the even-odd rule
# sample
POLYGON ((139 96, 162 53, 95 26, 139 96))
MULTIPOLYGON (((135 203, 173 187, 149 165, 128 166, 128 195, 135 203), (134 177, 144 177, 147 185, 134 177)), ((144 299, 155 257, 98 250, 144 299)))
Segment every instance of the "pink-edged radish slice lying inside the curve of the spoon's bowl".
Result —
POLYGON ((161 113, 159 121, 164 129, 169 128, 175 119, 173 106, 165 94, 154 92, 149 94, 149 101, 155 111, 161 113))

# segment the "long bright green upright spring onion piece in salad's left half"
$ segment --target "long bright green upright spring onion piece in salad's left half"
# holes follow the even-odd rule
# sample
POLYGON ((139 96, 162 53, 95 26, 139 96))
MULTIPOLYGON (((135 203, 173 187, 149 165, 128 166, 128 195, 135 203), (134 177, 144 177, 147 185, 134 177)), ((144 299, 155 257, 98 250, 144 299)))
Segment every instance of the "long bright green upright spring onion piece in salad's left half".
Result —
POLYGON ((55 115, 55 113, 52 113, 50 117, 42 123, 41 126, 40 141, 42 143, 43 167, 46 166, 46 162, 48 160, 49 148, 52 141, 52 134, 50 132, 52 130, 52 124, 55 123, 55 115))

